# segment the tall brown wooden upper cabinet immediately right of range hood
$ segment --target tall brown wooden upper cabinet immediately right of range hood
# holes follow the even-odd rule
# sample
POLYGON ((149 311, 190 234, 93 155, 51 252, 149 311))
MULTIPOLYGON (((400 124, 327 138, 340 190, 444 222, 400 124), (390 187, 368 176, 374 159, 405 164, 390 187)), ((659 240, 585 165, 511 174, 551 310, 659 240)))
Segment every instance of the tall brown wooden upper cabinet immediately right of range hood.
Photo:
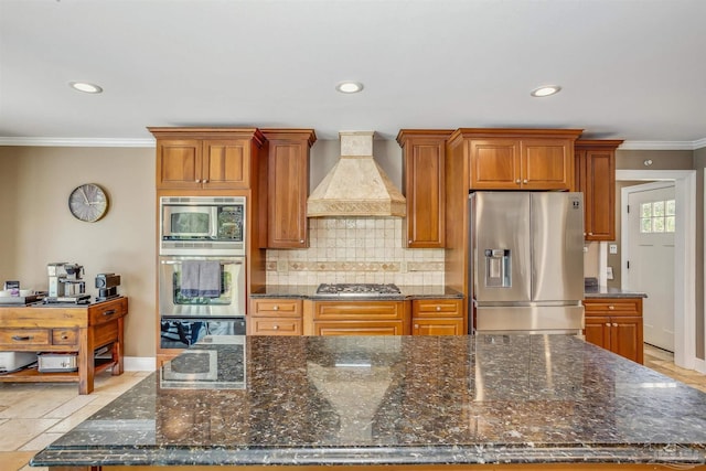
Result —
POLYGON ((445 154, 450 130, 402 129, 403 182, 407 200, 403 246, 445 246, 445 154))

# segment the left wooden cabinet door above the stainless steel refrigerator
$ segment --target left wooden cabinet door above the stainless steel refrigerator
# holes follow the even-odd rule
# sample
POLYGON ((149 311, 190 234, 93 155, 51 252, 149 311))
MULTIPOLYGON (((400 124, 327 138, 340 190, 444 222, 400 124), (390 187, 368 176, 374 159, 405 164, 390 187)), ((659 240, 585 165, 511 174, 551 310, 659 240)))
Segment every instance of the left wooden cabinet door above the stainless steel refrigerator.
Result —
POLYGON ((521 188, 520 140, 473 139, 469 141, 469 170, 473 190, 521 188))

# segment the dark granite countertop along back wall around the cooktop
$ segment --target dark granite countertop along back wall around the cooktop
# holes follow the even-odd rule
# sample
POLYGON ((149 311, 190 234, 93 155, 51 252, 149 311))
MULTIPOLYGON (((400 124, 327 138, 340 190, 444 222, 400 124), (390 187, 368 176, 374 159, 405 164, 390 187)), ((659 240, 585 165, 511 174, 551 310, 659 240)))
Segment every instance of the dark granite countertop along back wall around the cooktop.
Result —
POLYGON ((250 293, 253 299, 261 298, 301 298, 301 299, 314 299, 318 301, 324 300, 341 300, 341 301, 364 301, 364 300, 405 300, 405 299, 424 299, 424 298, 451 298, 462 299, 463 293, 452 288, 445 286, 398 286, 402 291, 400 295, 385 295, 375 296, 371 298, 355 297, 355 298, 338 298, 338 297, 320 297, 317 296, 318 285, 268 285, 265 289, 250 293))

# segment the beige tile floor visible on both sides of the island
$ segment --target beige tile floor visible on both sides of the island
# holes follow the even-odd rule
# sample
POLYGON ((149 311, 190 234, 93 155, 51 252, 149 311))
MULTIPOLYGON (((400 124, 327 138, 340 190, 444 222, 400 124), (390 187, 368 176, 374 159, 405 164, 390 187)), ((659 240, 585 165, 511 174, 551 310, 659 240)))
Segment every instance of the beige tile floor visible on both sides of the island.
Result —
MULTIPOLYGON (((644 364, 706 393, 706 375, 675 366, 668 352, 645 344, 644 364)), ((30 468, 29 460, 149 373, 100 373, 86 396, 73 383, 0 383, 0 471, 46 471, 30 468)))

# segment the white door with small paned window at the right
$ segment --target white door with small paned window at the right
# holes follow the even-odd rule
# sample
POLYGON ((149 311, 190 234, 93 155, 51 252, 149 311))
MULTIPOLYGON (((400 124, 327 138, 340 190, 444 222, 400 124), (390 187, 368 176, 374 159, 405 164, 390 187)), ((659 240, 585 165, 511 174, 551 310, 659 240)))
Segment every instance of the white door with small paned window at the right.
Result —
POLYGON ((674 183, 630 186, 628 204, 627 289, 648 295, 644 342, 674 352, 674 183))

